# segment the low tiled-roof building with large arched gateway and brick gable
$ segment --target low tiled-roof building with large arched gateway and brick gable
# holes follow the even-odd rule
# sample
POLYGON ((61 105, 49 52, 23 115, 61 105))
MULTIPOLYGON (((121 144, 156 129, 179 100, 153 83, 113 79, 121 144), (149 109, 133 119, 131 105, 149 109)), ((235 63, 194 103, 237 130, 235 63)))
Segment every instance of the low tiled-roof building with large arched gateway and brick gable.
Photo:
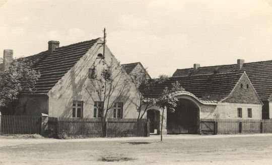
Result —
POLYGON ((173 93, 179 100, 175 112, 165 114, 167 133, 199 133, 200 118, 261 119, 262 102, 246 72, 176 76, 156 84, 151 93, 143 85, 139 89, 156 98, 176 82, 182 89, 173 93))

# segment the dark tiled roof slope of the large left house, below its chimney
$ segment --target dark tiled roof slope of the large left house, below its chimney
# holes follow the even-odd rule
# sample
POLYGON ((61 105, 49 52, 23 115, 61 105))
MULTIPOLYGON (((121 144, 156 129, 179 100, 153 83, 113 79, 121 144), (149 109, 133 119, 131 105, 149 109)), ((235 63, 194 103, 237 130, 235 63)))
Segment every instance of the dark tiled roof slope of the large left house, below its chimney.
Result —
POLYGON ((51 54, 47 51, 25 57, 41 77, 36 82, 36 94, 46 94, 69 71, 98 39, 56 48, 51 54))

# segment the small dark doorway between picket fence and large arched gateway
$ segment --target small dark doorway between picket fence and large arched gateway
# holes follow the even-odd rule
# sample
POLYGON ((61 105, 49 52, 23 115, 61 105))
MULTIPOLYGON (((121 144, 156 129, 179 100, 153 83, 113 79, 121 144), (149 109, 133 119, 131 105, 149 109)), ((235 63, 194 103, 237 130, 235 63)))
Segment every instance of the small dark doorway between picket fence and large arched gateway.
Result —
POLYGON ((150 133, 160 134, 160 111, 155 109, 148 110, 147 118, 150 121, 150 133))

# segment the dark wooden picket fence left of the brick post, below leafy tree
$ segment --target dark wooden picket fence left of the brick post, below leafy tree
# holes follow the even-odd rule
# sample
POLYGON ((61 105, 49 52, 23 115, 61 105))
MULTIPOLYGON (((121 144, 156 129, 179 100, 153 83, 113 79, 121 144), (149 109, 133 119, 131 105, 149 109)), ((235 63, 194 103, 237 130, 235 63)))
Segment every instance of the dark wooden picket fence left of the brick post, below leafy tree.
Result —
POLYGON ((39 134, 40 116, 1 115, 1 134, 39 134))

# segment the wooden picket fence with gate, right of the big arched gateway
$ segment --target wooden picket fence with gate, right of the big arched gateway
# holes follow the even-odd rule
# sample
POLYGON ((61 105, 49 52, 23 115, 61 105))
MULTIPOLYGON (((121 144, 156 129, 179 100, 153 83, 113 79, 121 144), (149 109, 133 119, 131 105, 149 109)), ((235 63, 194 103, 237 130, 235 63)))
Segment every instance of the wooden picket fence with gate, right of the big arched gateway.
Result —
POLYGON ((200 119, 201 134, 272 133, 272 120, 200 119))

